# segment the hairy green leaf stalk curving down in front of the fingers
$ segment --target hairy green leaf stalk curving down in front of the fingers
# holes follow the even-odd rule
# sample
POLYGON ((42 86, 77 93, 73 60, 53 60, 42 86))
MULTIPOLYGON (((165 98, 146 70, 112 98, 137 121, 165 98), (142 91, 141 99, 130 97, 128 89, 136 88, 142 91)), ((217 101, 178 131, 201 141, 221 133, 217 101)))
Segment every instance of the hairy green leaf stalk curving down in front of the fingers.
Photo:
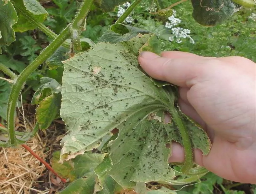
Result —
POLYGON ((172 117, 179 128, 180 136, 182 137, 183 146, 185 149, 185 161, 184 165, 181 168, 181 172, 187 174, 189 170, 193 167, 194 162, 191 140, 187 128, 182 120, 182 115, 179 114, 175 107, 170 110, 170 113, 172 114, 172 117))

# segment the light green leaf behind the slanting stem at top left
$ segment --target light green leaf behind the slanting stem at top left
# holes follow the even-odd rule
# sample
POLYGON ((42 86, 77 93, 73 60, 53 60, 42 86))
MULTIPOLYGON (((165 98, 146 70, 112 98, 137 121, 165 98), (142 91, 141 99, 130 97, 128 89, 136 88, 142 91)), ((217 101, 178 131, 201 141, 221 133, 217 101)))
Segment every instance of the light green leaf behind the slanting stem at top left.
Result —
POLYGON ((36 0, 12 0, 12 3, 19 17, 18 22, 13 26, 15 32, 25 32, 37 28, 37 25, 28 20, 27 17, 34 18, 38 22, 43 22, 48 16, 47 11, 36 0))

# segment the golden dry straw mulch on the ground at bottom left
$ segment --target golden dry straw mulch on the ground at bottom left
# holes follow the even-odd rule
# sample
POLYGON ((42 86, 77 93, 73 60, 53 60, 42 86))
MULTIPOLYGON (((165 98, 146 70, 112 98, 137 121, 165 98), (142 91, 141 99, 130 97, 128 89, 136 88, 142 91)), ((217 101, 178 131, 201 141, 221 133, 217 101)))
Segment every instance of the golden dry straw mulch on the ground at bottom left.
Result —
MULTIPOLYGON (((39 136, 27 142, 27 145, 42 159, 46 158, 46 143, 39 136)), ((46 169, 25 148, 0 148, 0 194, 48 193, 32 188, 33 183, 46 169)))

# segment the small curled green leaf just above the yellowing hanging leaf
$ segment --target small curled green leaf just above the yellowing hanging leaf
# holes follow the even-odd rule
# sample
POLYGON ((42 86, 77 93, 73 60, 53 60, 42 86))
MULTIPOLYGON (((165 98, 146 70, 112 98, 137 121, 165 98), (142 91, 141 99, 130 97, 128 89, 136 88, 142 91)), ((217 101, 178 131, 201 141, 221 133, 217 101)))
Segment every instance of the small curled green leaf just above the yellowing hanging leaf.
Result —
POLYGON ((55 79, 42 77, 41 84, 31 100, 31 105, 37 105, 48 96, 61 93, 61 85, 55 79))

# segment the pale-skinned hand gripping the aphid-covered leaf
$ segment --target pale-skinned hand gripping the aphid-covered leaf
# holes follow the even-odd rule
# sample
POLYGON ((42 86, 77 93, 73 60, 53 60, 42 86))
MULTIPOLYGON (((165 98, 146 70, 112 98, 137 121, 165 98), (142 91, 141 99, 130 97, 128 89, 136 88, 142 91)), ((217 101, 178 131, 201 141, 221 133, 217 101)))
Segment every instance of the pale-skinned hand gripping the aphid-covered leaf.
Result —
MULTIPOLYGON (((202 57, 179 51, 144 51, 141 67, 153 78, 179 86, 180 109, 208 133, 207 156, 194 150, 195 162, 241 183, 256 184, 256 63, 243 57, 202 57)), ((183 162, 173 143, 169 162, 183 162)))

